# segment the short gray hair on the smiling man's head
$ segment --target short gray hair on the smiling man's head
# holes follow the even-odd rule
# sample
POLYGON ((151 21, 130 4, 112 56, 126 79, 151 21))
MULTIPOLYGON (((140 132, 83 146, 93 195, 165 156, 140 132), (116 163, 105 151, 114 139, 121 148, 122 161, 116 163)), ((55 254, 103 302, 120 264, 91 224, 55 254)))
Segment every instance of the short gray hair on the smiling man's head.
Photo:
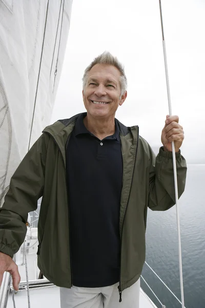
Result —
POLYGON ((113 56, 109 51, 104 51, 104 53, 98 55, 93 62, 85 69, 83 76, 83 88, 85 89, 87 81, 88 81, 88 73, 91 68, 96 64, 105 64, 105 65, 113 65, 115 66, 121 73, 119 78, 119 85, 121 95, 125 93, 127 90, 128 82, 125 74, 124 66, 118 61, 117 57, 113 56))

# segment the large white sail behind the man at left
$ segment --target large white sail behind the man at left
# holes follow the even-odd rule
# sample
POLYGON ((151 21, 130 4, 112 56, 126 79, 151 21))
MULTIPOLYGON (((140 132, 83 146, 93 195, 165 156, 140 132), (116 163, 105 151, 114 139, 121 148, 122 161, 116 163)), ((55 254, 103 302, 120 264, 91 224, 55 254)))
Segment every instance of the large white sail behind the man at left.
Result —
POLYGON ((0 205, 50 122, 71 7, 72 0, 0 0, 0 205))

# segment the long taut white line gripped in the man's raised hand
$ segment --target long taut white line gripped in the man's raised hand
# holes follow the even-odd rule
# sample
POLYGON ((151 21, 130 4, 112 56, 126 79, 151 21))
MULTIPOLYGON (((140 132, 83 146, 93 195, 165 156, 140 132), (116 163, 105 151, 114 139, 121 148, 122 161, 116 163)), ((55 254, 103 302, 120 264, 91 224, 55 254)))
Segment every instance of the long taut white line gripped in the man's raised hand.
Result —
MULTIPOLYGON (((167 52, 165 44, 165 36, 163 33, 163 21, 162 21, 162 10, 161 10, 161 0, 159 0, 160 6, 160 17, 161 17, 161 30, 162 30, 162 43, 163 43, 163 57, 165 61, 165 73, 167 82, 167 95, 169 104, 169 115, 172 115, 171 107, 171 95, 169 86, 169 74, 168 74, 168 64, 167 64, 167 52)), ((183 296, 183 275, 182 275, 182 260, 181 260, 181 236, 180 236, 180 219, 179 219, 179 205, 178 205, 178 187, 177 187, 177 172, 176 172, 176 156, 175 156, 175 146, 174 141, 172 141, 172 156, 173 156, 173 168, 174 168, 174 187, 175 187, 175 200, 176 200, 176 217, 177 217, 177 232, 178 232, 178 252, 179 252, 179 275, 180 275, 180 288, 181 288, 181 305, 185 308, 185 299, 183 296)))

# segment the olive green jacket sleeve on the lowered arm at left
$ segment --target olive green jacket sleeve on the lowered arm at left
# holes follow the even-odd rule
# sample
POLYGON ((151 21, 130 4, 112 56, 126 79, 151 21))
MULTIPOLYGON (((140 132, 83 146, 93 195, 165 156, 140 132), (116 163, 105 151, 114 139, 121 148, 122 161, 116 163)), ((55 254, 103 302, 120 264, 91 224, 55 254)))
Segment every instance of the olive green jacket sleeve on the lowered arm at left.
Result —
POLYGON ((44 169, 49 136, 34 143, 11 178, 0 208, 0 252, 13 257, 24 242, 28 213, 37 208, 44 190, 44 169))

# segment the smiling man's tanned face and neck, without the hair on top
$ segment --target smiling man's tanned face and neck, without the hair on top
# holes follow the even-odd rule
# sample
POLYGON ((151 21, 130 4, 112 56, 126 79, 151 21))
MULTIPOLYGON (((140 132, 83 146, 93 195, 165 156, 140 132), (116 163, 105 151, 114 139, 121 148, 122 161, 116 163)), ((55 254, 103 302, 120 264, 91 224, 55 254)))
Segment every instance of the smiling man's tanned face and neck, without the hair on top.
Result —
POLYGON ((115 112, 127 97, 127 79, 121 77, 119 69, 123 72, 120 65, 117 68, 97 63, 84 74, 83 99, 87 109, 84 124, 101 139, 115 132, 115 112))

